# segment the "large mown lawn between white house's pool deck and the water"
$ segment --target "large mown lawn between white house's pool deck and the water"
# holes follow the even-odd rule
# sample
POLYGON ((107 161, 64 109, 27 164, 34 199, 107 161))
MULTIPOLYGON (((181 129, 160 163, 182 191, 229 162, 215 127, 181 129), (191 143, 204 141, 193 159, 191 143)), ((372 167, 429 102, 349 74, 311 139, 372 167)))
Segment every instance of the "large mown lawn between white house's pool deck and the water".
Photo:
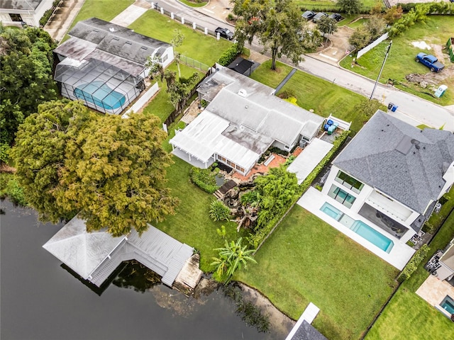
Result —
POLYGON ((395 287, 397 269, 319 217, 295 205, 234 277, 298 319, 309 302, 320 308, 314 327, 330 340, 360 339, 395 287))

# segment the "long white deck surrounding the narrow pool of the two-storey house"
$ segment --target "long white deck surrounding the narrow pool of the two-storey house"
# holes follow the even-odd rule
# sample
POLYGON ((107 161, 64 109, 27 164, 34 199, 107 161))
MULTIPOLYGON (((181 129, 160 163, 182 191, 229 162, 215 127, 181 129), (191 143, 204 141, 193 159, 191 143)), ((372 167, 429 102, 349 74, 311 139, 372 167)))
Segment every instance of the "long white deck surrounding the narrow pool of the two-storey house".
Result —
POLYGON ((304 195, 301 196, 301 198, 298 200, 298 204, 302 208, 309 210, 309 212, 321 218, 321 220, 328 223, 328 225, 335 227, 336 229, 338 229, 338 231, 347 235, 348 237, 350 237, 350 239, 353 239, 353 241, 358 242, 367 250, 371 251, 373 254, 379 256, 384 261, 387 261, 387 263, 396 267, 400 271, 402 271, 406 263, 409 261, 409 259, 411 259, 411 256, 413 256, 415 252, 414 249, 412 249, 410 246, 407 246, 404 242, 401 242, 396 237, 393 237, 392 235, 388 234, 380 227, 377 227, 377 225, 375 225, 374 223, 366 220, 364 217, 351 212, 348 208, 345 208, 341 203, 338 203, 338 201, 333 200, 331 197, 323 195, 316 188, 310 187, 308 191, 306 191, 306 193, 304 193, 304 195), (392 247, 389 254, 386 251, 383 251, 382 249, 375 246, 375 244, 372 244, 366 239, 362 238, 360 235, 356 234, 348 227, 345 227, 345 225, 343 225, 341 222, 338 222, 332 217, 326 215, 325 212, 320 210, 323 203, 329 203, 333 205, 333 207, 337 208, 338 210, 341 210, 346 215, 352 217, 353 220, 360 220, 362 222, 365 222, 365 224, 377 230, 377 232, 380 232, 380 234, 386 236, 388 239, 391 239, 392 242, 394 242, 394 246, 392 247))

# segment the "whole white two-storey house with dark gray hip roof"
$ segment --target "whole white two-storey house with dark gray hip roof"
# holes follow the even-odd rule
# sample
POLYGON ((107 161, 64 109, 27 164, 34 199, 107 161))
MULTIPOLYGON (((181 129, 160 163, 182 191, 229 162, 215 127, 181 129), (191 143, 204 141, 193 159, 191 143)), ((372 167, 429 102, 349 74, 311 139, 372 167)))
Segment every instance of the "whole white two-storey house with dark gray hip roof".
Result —
POLYGON ((343 215, 404 243, 453 183, 452 132, 420 130, 379 110, 334 159, 322 193, 343 215))

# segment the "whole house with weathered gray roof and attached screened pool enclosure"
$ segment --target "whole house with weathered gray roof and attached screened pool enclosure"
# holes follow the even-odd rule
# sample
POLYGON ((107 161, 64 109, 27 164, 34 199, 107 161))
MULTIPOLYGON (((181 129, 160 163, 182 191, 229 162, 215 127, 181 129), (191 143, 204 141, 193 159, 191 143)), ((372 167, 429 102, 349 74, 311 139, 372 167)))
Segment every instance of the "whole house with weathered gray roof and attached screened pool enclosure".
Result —
POLYGON ((104 113, 119 114, 145 89, 148 57, 162 67, 173 47, 99 18, 79 21, 54 50, 55 80, 62 96, 104 113))

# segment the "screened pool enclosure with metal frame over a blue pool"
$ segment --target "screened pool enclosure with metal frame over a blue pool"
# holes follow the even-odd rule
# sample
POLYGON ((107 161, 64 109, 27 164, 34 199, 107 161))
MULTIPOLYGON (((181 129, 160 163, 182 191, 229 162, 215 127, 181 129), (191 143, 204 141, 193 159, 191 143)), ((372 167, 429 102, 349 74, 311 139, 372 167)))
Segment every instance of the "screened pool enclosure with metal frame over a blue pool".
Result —
POLYGON ((95 59, 77 62, 66 58, 57 64, 55 80, 61 84, 62 96, 113 114, 120 114, 144 88, 143 77, 95 59))

